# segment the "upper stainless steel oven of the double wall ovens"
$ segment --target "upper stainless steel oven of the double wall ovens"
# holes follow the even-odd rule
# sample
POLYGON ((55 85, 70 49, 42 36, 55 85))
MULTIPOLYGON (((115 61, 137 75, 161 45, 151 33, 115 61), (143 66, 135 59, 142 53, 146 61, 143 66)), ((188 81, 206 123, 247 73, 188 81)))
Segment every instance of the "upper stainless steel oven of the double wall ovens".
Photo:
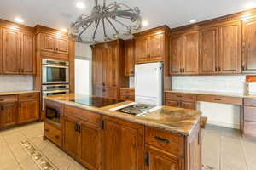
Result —
POLYGON ((68 83, 69 63, 53 59, 42 59, 42 84, 68 83))

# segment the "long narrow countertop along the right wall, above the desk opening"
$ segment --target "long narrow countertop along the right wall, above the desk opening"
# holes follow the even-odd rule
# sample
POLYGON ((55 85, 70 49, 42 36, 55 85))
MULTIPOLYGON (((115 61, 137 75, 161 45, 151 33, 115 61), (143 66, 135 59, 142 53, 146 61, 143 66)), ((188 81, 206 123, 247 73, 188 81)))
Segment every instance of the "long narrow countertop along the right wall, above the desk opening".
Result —
POLYGON ((256 95, 247 95, 247 94, 236 94, 236 93, 224 93, 224 92, 207 92, 207 91, 193 91, 193 90, 166 90, 165 92, 169 93, 181 93, 181 94, 205 94, 205 95, 220 95, 226 97, 235 97, 235 98, 250 98, 256 99, 256 95))

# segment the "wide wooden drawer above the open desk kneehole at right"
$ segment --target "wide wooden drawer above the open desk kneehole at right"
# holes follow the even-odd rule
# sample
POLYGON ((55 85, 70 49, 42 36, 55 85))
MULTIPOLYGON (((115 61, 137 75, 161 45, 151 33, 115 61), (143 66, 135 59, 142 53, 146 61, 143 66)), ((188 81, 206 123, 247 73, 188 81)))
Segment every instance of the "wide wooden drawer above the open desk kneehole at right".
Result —
POLYGON ((219 104, 242 105, 242 98, 225 97, 218 95, 197 95, 197 101, 206 101, 219 104))

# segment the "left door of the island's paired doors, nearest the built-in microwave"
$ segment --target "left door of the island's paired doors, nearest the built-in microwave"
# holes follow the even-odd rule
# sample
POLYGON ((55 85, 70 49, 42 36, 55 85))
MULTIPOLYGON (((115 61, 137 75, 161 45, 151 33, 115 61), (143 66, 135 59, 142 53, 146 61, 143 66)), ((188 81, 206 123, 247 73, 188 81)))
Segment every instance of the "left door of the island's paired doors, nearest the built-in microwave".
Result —
POLYGON ((63 149, 75 158, 79 156, 78 122, 79 120, 71 117, 63 118, 63 149))

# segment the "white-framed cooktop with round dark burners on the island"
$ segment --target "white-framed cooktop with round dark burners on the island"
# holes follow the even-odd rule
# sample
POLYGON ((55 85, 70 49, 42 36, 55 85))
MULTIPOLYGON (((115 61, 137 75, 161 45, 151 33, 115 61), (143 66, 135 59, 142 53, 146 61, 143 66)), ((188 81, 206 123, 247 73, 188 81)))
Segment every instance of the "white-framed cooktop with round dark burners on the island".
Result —
POLYGON ((156 111, 159 108, 160 107, 156 105, 131 103, 129 105, 121 105, 119 107, 113 108, 110 111, 120 111, 134 116, 146 116, 150 112, 156 111))

